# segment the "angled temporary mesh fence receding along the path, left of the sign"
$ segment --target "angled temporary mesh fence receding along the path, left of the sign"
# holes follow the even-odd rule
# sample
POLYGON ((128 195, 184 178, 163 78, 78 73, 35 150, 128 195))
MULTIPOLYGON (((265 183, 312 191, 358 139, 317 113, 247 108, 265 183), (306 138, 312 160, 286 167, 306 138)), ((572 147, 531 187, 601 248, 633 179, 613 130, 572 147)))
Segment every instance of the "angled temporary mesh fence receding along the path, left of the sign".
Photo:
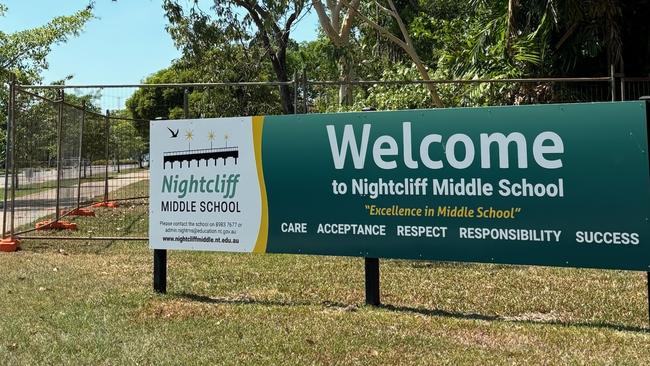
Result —
POLYGON ((148 121, 101 114, 88 95, 62 89, 12 90, 5 235, 34 235, 93 203, 146 197, 148 154, 134 124, 148 121))

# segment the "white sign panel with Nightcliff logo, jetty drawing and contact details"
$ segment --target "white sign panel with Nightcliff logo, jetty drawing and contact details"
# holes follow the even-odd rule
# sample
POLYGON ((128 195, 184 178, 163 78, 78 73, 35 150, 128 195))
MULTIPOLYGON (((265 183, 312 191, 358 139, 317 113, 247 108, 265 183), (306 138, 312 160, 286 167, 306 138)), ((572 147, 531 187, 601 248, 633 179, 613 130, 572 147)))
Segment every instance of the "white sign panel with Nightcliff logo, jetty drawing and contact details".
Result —
POLYGON ((262 192, 253 120, 151 122, 151 248, 254 251, 262 192))

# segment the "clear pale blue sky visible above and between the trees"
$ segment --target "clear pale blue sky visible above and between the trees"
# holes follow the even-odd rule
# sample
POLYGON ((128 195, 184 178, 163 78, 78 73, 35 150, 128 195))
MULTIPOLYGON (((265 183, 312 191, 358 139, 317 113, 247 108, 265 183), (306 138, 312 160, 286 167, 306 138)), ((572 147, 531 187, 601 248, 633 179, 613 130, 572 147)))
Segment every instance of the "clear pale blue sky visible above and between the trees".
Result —
MULTIPOLYGON (((0 0, 9 11, 0 18, 0 30, 15 32, 70 15, 88 0, 0 0)), ((204 1, 209 8, 209 1, 204 1)), ((165 31, 161 0, 96 0, 95 16, 84 32, 54 46, 48 57, 44 82, 73 79, 67 84, 136 84, 180 57, 165 31)), ((318 31, 314 12, 292 31, 298 42, 313 40, 318 31)))

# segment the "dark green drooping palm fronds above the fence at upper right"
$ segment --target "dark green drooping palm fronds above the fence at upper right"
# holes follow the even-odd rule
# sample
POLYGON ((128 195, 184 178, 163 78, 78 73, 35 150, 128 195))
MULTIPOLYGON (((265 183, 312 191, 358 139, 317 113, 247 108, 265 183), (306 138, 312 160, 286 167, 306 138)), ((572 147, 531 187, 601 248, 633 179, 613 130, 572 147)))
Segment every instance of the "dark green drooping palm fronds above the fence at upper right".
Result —
POLYGON ((469 47, 447 60, 456 77, 601 76, 623 61, 618 0, 470 4, 469 47))

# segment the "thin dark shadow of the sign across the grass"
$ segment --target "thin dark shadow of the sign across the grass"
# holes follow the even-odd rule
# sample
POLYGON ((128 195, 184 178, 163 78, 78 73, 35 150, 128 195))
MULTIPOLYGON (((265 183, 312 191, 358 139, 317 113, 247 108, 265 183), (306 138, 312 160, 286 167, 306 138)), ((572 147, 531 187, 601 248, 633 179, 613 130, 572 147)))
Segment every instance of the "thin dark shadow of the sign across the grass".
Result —
MULTIPOLYGON (((236 298, 214 298, 204 295, 190 294, 190 293, 177 293, 173 296, 189 300, 197 301, 208 304, 231 304, 231 305, 264 305, 264 306, 326 306, 326 307, 338 307, 338 308, 347 308, 350 304, 338 303, 338 302, 313 302, 308 300, 302 301, 275 301, 275 300, 256 300, 250 297, 236 297, 236 298)), ((377 309, 397 312, 397 313, 412 313, 424 316, 431 317, 443 317, 443 318, 453 318, 461 320, 483 320, 490 322, 503 322, 503 323, 518 323, 518 324, 540 324, 540 325, 560 325, 565 327, 583 327, 583 328, 594 328, 594 329, 608 329, 616 331, 626 331, 626 332, 638 332, 638 333, 650 333, 650 328, 647 327, 638 327, 631 325, 619 325, 612 324, 607 322, 570 322, 570 321, 557 321, 557 320, 513 320, 513 319, 504 319, 498 315, 484 315, 478 313, 462 313, 447 311, 441 309, 426 309, 426 308, 414 308, 408 306, 395 306, 389 304, 382 304, 377 307, 377 309)))

